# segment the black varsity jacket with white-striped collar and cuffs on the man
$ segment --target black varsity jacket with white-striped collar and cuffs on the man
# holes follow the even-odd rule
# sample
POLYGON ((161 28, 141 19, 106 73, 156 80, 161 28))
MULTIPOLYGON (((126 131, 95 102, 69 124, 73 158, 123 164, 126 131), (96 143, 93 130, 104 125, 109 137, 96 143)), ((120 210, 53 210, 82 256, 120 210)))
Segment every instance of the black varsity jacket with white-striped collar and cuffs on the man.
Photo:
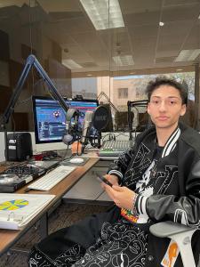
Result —
MULTIPOLYGON (((139 194, 136 208, 148 215, 151 223, 172 221, 200 228, 200 134, 180 125, 164 147, 164 153, 156 165, 154 193, 139 194)), ((122 154, 110 167, 108 174, 116 174, 124 186, 136 189, 136 183, 145 173, 155 155, 156 129, 152 127, 136 138, 132 150, 122 154)), ((196 261, 200 247, 199 231, 192 239, 196 261)), ((149 233, 146 265, 160 263, 169 245, 169 239, 158 239, 149 233)), ((174 267, 182 266, 180 255, 174 267)))

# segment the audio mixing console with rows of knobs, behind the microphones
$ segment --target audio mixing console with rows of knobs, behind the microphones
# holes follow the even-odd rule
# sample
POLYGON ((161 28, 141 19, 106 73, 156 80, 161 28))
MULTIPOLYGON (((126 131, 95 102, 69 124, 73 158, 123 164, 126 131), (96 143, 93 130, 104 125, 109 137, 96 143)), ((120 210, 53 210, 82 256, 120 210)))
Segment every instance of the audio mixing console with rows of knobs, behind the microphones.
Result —
POLYGON ((111 140, 103 143, 99 151, 100 157, 118 157, 119 154, 132 147, 129 140, 111 140))

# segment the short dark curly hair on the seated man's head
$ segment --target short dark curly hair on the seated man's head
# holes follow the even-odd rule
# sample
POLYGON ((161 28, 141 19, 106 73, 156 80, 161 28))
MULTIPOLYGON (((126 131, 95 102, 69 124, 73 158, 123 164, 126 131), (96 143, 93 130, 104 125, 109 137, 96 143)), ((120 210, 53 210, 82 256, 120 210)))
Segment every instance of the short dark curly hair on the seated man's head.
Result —
POLYGON ((187 103, 188 103, 188 92, 187 92, 185 86, 181 85, 177 81, 172 80, 172 79, 167 78, 167 77, 156 77, 155 80, 150 81, 148 83, 148 86, 146 88, 146 93, 148 94, 148 101, 150 101, 151 94, 154 92, 154 90, 156 90, 158 87, 160 87, 162 85, 169 85, 169 86, 172 86, 172 87, 176 88, 177 90, 179 90, 180 97, 182 99, 182 104, 186 104, 187 105, 187 103))

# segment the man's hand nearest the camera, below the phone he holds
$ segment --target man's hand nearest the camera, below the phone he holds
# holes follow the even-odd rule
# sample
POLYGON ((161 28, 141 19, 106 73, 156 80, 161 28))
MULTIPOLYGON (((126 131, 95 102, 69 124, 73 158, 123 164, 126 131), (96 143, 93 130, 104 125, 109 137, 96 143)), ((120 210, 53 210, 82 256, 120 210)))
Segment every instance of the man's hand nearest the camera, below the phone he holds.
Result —
POLYGON ((116 206, 132 210, 132 199, 135 195, 134 191, 125 186, 121 187, 118 185, 113 185, 110 187, 105 183, 103 183, 103 188, 108 193, 109 198, 113 199, 113 201, 116 203, 116 206))

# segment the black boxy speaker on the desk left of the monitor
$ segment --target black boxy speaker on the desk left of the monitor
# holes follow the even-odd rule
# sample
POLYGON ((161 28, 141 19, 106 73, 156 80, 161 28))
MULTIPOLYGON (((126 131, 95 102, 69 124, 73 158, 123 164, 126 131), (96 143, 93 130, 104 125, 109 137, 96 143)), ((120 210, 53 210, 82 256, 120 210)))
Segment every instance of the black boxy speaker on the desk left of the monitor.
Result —
POLYGON ((7 135, 5 158, 7 161, 22 161, 33 155, 31 135, 29 133, 12 133, 7 135))

